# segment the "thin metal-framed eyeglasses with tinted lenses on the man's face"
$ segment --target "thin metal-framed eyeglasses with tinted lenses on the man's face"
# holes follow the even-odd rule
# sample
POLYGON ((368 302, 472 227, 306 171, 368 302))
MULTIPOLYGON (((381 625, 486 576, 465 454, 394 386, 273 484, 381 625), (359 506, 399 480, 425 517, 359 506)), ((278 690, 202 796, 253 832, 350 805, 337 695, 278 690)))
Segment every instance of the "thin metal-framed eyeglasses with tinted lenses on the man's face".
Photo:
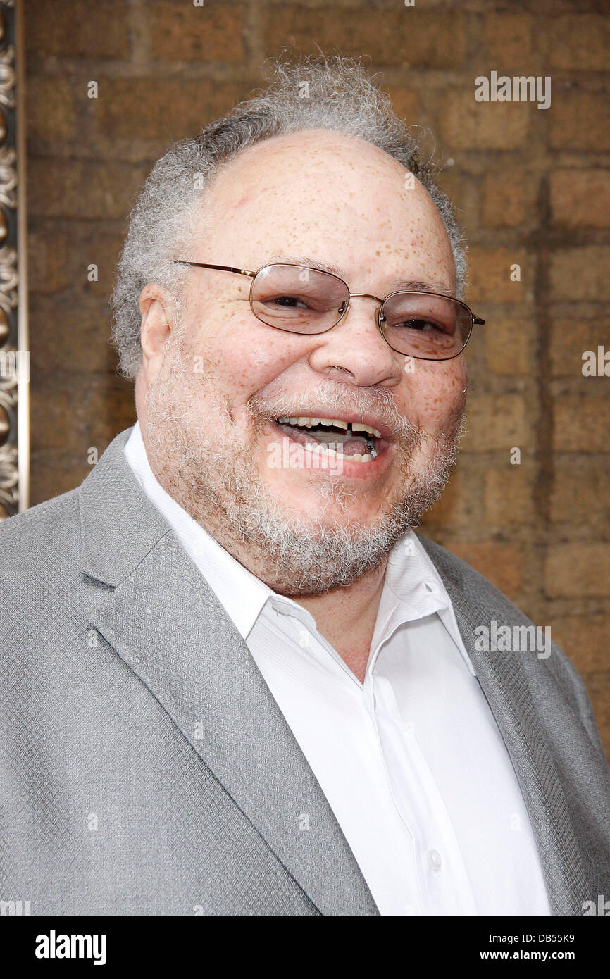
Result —
POLYGON ((354 297, 375 300, 379 303, 375 321, 386 343, 397 353, 418 360, 456 357, 468 343, 473 325, 485 323, 466 303, 449 296, 397 292, 382 300, 370 293, 351 293, 337 275, 305 265, 278 262, 251 272, 202 261, 175 259, 175 263, 250 276, 250 306, 255 316, 288 333, 326 333, 341 323, 354 297))

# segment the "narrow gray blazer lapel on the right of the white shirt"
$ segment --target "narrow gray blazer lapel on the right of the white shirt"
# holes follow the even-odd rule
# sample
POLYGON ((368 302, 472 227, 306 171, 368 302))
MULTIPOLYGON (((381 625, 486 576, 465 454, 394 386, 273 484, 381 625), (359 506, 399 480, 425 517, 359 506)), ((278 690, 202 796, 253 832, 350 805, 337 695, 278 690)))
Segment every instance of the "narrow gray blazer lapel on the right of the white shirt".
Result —
MULTIPOLYGON (((540 730, 528 679, 518 657, 480 652, 475 629, 485 621, 456 564, 425 536, 419 539, 441 575, 458 629, 490 704, 521 786, 538 844, 542 873, 554 914, 582 914, 588 893, 581 852, 561 780, 540 730)), ((498 625, 512 625, 509 622, 498 625)))

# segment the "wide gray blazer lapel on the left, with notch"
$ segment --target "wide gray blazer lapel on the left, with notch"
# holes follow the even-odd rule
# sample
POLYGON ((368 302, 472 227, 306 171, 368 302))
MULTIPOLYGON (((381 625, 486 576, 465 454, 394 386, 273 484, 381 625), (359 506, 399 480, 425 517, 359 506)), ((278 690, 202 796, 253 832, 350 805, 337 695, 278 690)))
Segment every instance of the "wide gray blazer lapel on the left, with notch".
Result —
POLYGON ((80 488, 89 611, 323 914, 377 914, 348 842, 241 636, 112 443, 80 488))

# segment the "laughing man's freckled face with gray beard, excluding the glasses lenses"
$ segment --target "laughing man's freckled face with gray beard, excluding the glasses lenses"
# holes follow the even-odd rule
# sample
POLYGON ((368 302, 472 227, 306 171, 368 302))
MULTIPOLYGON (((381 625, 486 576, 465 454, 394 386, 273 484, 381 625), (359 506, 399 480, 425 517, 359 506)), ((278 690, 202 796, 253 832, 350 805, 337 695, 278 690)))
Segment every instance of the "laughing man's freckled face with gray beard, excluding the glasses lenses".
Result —
MULTIPOLYGON (((417 282, 454 295, 443 221, 405 176, 351 136, 276 137, 219 173, 195 254, 179 257, 253 270, 278 259, 330 264, 353 293, 383 298, 417 282)), ((251 281, 191 268, 179 329, 149 343, 145 324, 145 442, 164 488, 258 577, 286 593, 325 590, 378 562, 438 497, 463 413, 465 364, 392 350, 371 299, 353 299, 327 333, 274 329, 252 312, 251 281), (377 454, 352 460, 353 449, 373 454, 353 433, 343 459, 321 464, 303 449, 313 430, 277 422, 290 417, 364 423, 381 433, 377 454)))

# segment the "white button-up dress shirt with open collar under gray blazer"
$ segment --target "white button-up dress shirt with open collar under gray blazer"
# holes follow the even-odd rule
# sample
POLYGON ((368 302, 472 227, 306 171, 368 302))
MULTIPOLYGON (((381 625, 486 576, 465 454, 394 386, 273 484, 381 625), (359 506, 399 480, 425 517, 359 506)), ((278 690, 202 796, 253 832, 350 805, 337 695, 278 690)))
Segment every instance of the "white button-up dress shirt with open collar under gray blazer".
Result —
POLYGON ((246 642, 380 912, 549 914, 514 769, 417 536, 390 554, 360 683, 301 605, 165 492, 137 424, 125 455, 246 642))

